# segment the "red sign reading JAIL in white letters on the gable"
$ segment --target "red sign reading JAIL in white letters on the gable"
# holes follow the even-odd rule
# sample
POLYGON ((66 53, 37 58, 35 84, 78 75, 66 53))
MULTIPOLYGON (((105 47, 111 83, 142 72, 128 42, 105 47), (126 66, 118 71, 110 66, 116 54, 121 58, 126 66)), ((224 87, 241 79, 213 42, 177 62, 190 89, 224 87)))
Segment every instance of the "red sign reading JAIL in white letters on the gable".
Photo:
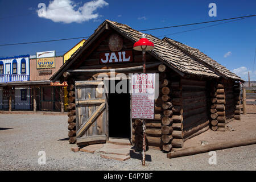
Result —
POLYGON ((100 64, 129 63, 133 61, 133 51, 100 53, 100 64))

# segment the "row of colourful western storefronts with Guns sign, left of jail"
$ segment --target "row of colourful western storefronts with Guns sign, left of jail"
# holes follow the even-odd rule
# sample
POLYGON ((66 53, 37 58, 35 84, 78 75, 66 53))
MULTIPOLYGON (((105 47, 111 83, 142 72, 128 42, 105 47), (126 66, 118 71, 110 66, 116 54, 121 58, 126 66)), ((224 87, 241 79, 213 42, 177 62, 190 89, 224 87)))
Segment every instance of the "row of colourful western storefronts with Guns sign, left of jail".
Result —
POLYGON ((0 110, 67 111, 67 82, 49 78, 84 42, 82 39, 63 56, 43 51, 0 58, 0 110))

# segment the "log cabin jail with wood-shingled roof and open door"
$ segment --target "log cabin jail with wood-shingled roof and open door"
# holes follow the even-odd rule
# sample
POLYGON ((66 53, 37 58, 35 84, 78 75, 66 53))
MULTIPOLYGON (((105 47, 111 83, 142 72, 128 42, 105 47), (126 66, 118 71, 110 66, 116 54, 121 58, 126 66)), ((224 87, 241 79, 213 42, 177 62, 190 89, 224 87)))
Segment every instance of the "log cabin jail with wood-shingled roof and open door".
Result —
MULTIPOLYGON (((68 82, 70 143, 102 143, 114 137, 130 139, 142 148, 142 123, 129 117, 130 94, 97 92, 100 73, 108 77, 111 69, 116 74, 142 73, 142 53, 133 49, 141 35, 125 24, 105 20, 50 78, 68 82)), ((146 119, 149 148, 170 152, 208 129, 222 130, 240 119, 240 77, 199 49, 170 38, 147 35, 147 39, 155 48, 146 51, 146 73, 159 73, 160 90, 155 118, 146 119)))

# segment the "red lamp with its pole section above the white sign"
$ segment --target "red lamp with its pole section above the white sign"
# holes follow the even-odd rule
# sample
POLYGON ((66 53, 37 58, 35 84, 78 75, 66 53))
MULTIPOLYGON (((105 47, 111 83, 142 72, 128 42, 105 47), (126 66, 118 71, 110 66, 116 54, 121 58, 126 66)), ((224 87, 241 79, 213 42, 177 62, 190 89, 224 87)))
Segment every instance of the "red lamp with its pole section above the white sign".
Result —
POLYGON ((150 42, 145 34, 142 34, 141 39, 138 42, 135 42, 133 45, 133 49, 136 51, 142 51, 143 55, 143 73, 146 72, 146 51, 150 51, 154 49, 154 44, 150 42))

